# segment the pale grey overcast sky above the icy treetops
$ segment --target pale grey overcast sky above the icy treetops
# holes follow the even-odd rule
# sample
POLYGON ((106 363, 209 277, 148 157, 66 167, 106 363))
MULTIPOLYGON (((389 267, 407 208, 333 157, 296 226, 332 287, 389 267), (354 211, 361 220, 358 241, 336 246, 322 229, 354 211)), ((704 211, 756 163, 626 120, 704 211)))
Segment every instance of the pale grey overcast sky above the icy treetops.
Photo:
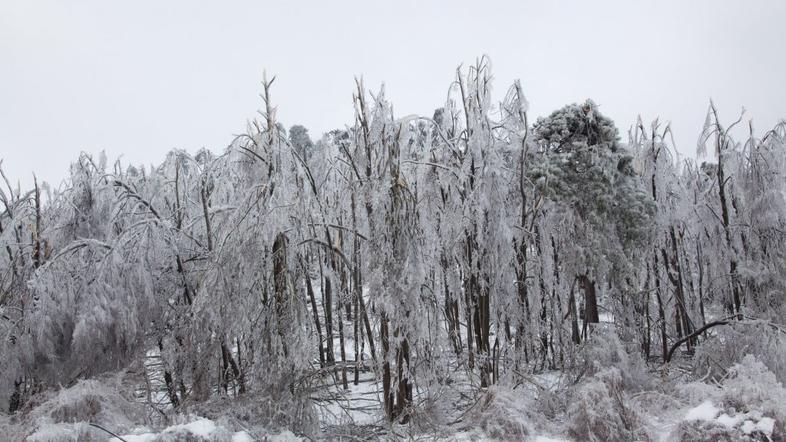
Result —
POLYGON ((459 63, 491 57, 535 115, 593 98, 625 133, 671 120, 692 154, 708 100, 764 130, 786 117, 786 1, 0 0, 0 158, 57 184, 80 151, 157 164, 219 150, 262 107, 312 138, 352 122, 354 76, 431 115, 459 63))

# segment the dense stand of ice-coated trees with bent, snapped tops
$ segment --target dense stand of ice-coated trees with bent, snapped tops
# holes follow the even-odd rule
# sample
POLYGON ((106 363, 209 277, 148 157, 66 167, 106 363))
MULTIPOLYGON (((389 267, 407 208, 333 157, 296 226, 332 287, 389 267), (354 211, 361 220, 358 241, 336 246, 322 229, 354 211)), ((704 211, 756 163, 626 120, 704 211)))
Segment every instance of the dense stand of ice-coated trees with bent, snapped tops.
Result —
POLYGON ((312 143, 276 121, 271 83, 220 154, 6 180, 5 410, 155 353, 174 409, 370 372, 405 423, 458 377, 578 372, 594 334, 668 362, 786 314, 784 124, 738 143, 711 106, 709 160, 682 160, 668 126, 623 142, 589 100, 532 124, 518 83, 493 104, 483 60, 433 118, 359 81, 354 123, 312 143))

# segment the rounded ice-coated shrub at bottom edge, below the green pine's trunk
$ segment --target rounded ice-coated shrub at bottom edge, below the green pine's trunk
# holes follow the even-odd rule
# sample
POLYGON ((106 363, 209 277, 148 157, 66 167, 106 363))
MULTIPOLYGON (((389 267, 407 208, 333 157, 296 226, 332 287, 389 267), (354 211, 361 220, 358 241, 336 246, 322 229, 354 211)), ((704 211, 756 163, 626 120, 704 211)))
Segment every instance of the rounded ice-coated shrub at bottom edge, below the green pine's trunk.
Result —
POLYGON ((639 412, 623 391, 617 368, 605 369, 578 387, 568 410, 568 432, 582 441, 650 439, 639 412))

